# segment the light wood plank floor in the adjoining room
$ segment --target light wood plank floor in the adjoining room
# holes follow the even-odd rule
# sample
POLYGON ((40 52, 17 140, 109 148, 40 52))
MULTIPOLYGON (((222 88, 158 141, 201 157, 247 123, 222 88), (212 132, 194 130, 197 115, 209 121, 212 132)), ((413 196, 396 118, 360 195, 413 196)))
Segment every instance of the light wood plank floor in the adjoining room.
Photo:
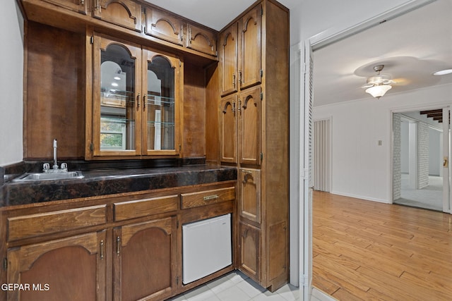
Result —
POLYGON ((338 300, 452 300, 451 214, 314 191, 313 285, 338 300))

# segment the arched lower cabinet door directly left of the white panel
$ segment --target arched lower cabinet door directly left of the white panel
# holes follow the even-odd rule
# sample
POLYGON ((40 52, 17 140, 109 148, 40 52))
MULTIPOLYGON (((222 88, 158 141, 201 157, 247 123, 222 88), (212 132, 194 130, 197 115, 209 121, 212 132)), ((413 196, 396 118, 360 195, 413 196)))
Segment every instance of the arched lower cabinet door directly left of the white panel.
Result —
POLYGON ((114 300, 165 300, 176 286, 176 217, 113 230, 114 300))

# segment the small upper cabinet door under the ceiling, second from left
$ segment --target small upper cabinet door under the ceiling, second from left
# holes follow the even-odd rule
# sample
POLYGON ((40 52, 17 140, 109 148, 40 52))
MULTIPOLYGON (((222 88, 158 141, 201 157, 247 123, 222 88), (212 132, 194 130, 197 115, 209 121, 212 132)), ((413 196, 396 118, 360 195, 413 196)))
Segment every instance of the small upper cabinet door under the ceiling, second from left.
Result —
MULTIPOLYGON (((86 0, 88 1, 88 0, 86 0)), ((141 3, 133 0, 91 0, 93 17, 141 32, 141 3)))

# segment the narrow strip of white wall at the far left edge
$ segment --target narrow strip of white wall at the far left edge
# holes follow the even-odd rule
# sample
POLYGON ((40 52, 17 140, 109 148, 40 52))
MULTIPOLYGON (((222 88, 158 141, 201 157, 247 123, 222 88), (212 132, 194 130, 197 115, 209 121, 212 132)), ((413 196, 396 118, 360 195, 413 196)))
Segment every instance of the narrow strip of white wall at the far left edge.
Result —
POLYGON ((23 159, 23 18, 14 0, 0 10, 0 166, 23 159))

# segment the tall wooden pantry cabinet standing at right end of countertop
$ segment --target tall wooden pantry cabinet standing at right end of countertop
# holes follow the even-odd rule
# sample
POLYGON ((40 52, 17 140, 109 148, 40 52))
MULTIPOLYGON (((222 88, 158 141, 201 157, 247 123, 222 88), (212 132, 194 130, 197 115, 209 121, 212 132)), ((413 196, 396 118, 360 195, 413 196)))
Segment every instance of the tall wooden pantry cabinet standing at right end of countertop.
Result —
POLYGON ((289 11, 256 3, 218 49, 220 163, 239 168, 237 266, 273 291, 288 278, 289 11))

